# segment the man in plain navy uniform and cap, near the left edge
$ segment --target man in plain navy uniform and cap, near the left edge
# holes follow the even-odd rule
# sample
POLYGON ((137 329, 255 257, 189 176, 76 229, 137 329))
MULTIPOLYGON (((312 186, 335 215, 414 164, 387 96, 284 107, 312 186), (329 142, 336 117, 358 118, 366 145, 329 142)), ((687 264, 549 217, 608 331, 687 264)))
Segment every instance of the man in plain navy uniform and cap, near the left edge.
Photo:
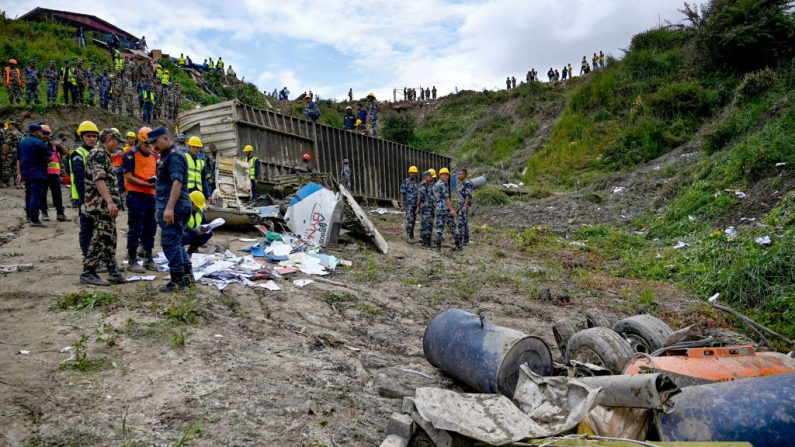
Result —
POLYGON ((18 180, 25 182, 25 212, 33 227, 46 227, 39 219, 39 211, 45 209, 47 200, 47 163, 51 150, 44 142, 41 126, 28 126, 29 135, 19 142, 18 180))

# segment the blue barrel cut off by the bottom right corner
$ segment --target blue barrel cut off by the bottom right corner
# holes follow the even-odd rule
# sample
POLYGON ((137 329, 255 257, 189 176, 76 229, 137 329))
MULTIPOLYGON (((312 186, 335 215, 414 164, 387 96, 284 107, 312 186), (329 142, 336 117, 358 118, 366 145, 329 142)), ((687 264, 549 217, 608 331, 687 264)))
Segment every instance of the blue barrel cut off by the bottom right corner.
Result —
POLYGON ((663 441, 745 441, 795 446, 795 374, 682 388, 657 419, 663 441))

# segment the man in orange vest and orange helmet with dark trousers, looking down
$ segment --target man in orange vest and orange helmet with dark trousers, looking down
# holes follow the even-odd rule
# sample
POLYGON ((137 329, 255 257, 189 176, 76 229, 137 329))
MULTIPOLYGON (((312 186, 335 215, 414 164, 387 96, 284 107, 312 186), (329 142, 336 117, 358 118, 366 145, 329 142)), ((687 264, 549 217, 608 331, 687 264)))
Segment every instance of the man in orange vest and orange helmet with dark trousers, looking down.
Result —
MULTIPOLYGON (((124 152, 122 170, 127 190, 127 259, 128 271, 144 273, 157 271, 152 257, 155 245, 155 182, 157 181, 157 156, 149 144, 151 129, 142 127, 138 131, 139 144, 124 152), (143 248, 144 265, 138 265, 138 248, 143 248)), ((132 132, 130 132, 132 133, 132 132)), ((133 134, 135 137, 135 134, 133 134)))

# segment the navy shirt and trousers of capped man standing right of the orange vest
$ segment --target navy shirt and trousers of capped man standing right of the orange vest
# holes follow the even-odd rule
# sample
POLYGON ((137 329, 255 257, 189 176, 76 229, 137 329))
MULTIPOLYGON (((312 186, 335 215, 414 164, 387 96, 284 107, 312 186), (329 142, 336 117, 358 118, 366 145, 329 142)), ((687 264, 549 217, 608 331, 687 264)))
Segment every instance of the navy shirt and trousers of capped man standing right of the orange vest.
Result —
POLYGON ((182 234, 193 210, 188 196, 188 162, 185 160, 185 153, 174 146, 162 151, 160 160, 155 194, 157 223, 160 225, 160 245, 168 259, 171 280, 182 284, 185 273, 190 271, 190 257, 182 246, 182 234), (182 188, 179 199, 174 205, 174 223, 167 225, 163 213, 175 180, 182 183, 182 188))

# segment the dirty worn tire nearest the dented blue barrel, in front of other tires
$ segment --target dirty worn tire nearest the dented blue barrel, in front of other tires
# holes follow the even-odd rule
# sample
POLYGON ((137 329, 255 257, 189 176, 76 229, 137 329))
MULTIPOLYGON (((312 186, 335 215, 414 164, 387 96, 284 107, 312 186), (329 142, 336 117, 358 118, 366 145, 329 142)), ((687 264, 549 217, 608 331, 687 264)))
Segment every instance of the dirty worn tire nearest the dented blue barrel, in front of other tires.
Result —
POLYGON ((632 347, 620 335, 606 327, 592 327, 577 332, 566 346, 566 359, 593 363, 621 374, 632 361, 632 347))

